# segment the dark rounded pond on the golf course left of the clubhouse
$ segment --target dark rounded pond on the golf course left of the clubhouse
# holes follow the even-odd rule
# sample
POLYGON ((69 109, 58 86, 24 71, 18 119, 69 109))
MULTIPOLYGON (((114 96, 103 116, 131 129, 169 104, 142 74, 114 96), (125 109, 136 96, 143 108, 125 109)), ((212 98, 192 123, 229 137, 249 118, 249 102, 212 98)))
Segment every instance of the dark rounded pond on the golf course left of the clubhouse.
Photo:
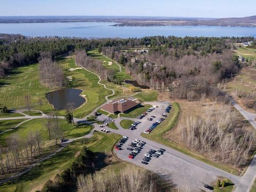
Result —
POLYGON ((57 110, 66 109, 68 103, 74 103, 74 108, 78 108, 86 102, 81 93, 79 89, 62 89, 46 94, 46 98, 57 110))

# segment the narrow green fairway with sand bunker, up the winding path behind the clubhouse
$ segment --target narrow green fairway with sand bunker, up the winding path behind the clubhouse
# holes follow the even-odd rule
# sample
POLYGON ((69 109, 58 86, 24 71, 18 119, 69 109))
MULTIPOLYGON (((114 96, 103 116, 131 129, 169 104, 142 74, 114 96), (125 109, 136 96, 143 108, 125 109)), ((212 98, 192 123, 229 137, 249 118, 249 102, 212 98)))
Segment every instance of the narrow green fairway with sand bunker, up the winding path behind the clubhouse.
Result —
POLYGON ((97 49, 92 50, 92 51, 88 51, 87 54, 88 54, 88 56, 91 56, 93 58, 96 58, 96 59, 102 61, 102 64, 103 64, 105 69, 115 70, 116 77, 117 77, 118 81, 123 81, 125 79, 131 79, 131 76, 125 72, 125 69, 122 65, 119 64, 121 66, 121 69, 122 69, 122 72, 119 72, 120 69, 119 69, 119 66, 117 65, 116 61, 112 60, 108 57, 105 57, 104 55, 99 53, 97 49), (112 62, 112 65, 109 65, 109 62, 112 62))

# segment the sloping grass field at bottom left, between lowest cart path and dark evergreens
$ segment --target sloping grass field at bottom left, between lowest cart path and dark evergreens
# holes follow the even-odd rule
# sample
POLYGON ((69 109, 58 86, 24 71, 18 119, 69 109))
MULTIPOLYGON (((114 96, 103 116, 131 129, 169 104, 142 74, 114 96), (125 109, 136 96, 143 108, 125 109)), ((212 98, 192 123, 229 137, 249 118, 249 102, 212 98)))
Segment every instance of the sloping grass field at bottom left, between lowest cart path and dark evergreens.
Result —
MULTIPOLYGON (((120 138, 121 136, 117 134, 97 132, 90 139, 70 143, 61 152, 34 167, 19 179, 1 185, 0 191, 27 192, 39 190, 48 179, 52 179, 56 174, 60 174, 64 169, 68 168, 84 145, 94 152, 111 153, 114 144, 120 138)), ((115 170, 124 166, 126 166, 125 163, 117 163, 106 166, 105 168, 115 170)))

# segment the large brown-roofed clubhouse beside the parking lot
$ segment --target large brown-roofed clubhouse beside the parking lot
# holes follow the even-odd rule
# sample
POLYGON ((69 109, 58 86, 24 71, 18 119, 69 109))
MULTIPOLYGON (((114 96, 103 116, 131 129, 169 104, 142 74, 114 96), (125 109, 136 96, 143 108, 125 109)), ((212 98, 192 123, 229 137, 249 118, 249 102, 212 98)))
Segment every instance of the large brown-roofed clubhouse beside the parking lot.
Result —
POLYGON ((135 108, 139 104, 140 103, 136 102, 135 100, 121 99, 121 100, 115 100, 103 105, 102 109, 110 113, 118 113, 118 112, 123 113, 135 108))

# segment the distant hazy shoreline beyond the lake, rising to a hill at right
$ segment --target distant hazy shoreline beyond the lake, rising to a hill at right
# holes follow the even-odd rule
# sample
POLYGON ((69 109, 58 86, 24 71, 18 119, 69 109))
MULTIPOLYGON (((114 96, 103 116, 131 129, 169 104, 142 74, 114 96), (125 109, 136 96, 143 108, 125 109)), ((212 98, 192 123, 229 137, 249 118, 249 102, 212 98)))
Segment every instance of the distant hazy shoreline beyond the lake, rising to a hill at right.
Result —
POLYGON ((186 18, 186 17, 89 17, 79 16, 35 16, 0 17, 2 24, 20 23, 71 23, 71 22, 109 22, 113 26, 223 26, 256 27, 256 16, 242 18, 186 18))

